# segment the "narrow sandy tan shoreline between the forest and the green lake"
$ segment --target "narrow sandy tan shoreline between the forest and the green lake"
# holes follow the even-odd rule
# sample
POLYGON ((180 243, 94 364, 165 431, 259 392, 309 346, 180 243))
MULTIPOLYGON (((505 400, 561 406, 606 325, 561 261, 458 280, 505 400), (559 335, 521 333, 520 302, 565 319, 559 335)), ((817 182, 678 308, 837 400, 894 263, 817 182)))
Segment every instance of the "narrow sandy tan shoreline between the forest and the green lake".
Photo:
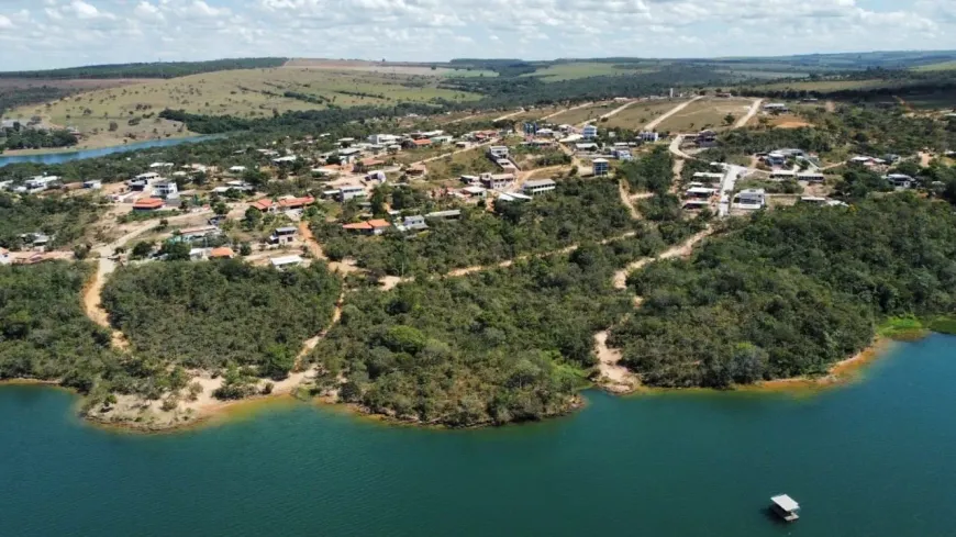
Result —
MULTIPOLYGON (((827 370, 827 373, 821 377, 804 376, 790 379, 776 379, 770 381, 763 381, 751 385, 737 385, 726 391, 755 393, 800 393, 807 390, 820 390, 845 385, 846 383, 859 378, 861 369, 870 365, 876 359, 885 356, 886 353, 892 348, 893 344, 894 342, 892 339, 886 337, 877 337, 869 347, 845 360, 832 365, 827 370)), ((82 395, 77 393, 76 390, 60 385, 59 381, 57 380, 5 379, 0 380, 0 388, 2 388, 3 385, 36 385, 66 390, 78 396, 78 401, 76 403, 76 415, 80 419, 82 419, 82 422, 104 430, 143 435, 186 433, 200 427, 230 423, 235 418, 253 415, 259 410, 267 406, 273 406, 277 404, 291 405, 296 403, 307 403, 315 406, 323 406, 348 413, 349 415, 359 417, 362 419, 369 419, 376 423, 385 423, 389 425, 425 427, 447 430, 476 429, 496 426, 496 424, 491 421, 474 424, 467 427, 453 427, 440 423, 423 423, 415 419, 402 419, 396 416, 373 412, 370 409, 365 407, 360 404, 340 402, 334 399, 334 394, 323 394, 314 396, 310 395, 304 399, 299 398, 297 396, 297 394, 299 393, 299 390, 303 388, 303 381, 307 380, 307 373, 308 371, 293 373, 292 376, 290 376, 289 379, 284 381, 284 385, 276 387, 276 390, 273 393, 257 394, 241 400, 220 401, 209 396, 209 393, 211 393, 209 392, 205 394, 207 396, 203 398, 202 401, 193 402, 197 404, 191 407, 187 407, 185 412, 176 409, 174 411, 166 411, 165 414, 160 414, 165 416, 165 419, 162 421, 144 419, 144 413, 155 410, 153 409, 153 406, 155 406, 157 403, 160 403, 159 401, 146 402, 145 406, 141 409, 142 412, 140 413, 140 415, 134 418, 131 418, 132 416, 126 414, 116 415, 116 406, 113 406, 108 412, 98 413, 95 410, 82 412, 80 410, 84 401, 82 395)), ((627 393, 608 390, 607 387, 599 383, 591 384, 591 388, 600 389, 607 393, 611 393, 612 395, 616 396, 630 396, 638 394, 646 395, 688 391, 722 391, 708 388, 654 388, 640 383, 627 393)), ((580 393, 577 393, 574 396, 573 401, 568 402, 568 406, 563 412, 545 416, 542 421, 567 416, 583 409, 585 406, 587 406, 587 399, 583 398, 580 393)), ((155 417, 155 414, 145 415, 155 417)), ((518 423, 516 425, 520 425, 520 423, 518 423)))

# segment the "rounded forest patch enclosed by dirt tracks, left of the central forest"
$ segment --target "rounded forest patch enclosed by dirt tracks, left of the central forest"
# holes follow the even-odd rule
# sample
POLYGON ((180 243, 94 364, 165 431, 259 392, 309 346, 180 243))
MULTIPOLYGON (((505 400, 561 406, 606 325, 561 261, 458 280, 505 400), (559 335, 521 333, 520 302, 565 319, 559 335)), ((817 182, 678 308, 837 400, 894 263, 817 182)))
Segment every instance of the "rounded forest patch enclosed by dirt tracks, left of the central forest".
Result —
POLYGON ((330 324, 340 291, 320 262, 279 272, 240 260, 167 261, 118 270, 103 306, 143 360, 282 377, 302 342, 330 324))

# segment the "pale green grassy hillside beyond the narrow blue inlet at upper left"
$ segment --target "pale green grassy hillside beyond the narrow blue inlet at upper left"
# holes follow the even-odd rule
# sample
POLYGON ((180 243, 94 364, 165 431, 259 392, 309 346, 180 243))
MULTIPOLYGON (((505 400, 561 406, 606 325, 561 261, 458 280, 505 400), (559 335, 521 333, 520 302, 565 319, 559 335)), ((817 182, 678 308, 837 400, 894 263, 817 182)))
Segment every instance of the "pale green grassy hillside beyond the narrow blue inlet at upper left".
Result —
POLYGON ((438 89, 440 80, 434 76, 360 70, 285 67, 231 70, 99 89, 47 105, 22 107, 7 115, 42 115, 54 125, 75 126, 85 134, 96 133, 86 145, 109 146, 123 144, 132 137, 144 139, 189 134, 180 131, 180 125, 154 118, 166 108, 209 115, 268 118, 274 112, 323 109, 327 103, 338 107, 388 105, 427 102, 434 98, 467 101, 480 97, 438 89), (308 96, 319 102, 284 97, 286 92, 308 96), (138 124, 130 125, 131 120, 138 120, 138 124), (119 128, 110 132, 111 123, 119 128))

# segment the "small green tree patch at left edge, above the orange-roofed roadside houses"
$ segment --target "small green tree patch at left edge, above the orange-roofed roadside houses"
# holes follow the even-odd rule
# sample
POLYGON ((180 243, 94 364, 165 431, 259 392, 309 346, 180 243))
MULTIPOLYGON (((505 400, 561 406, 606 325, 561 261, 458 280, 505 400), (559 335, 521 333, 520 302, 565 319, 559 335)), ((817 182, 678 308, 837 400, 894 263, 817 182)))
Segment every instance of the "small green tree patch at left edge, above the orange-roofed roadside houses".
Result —
POLYGON ((16 195, 0 192, 0 246, 20 249, 20 235, 43 233, 52 247, 74 244, 97 221, 102 206, 91 197, 16 195))

